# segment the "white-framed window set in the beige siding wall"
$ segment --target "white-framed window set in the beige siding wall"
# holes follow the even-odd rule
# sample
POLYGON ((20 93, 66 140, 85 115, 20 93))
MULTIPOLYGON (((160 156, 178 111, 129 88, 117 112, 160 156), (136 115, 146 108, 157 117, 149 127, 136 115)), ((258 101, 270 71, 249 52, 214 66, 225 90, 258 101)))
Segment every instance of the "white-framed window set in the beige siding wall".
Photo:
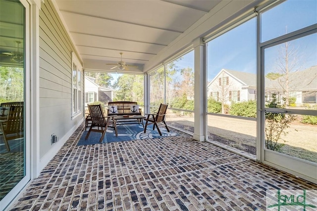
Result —
POLYGON ((82 111, 83 96, 82 96, 82 67, 77 56, 72 53, 72 114, 82 111))

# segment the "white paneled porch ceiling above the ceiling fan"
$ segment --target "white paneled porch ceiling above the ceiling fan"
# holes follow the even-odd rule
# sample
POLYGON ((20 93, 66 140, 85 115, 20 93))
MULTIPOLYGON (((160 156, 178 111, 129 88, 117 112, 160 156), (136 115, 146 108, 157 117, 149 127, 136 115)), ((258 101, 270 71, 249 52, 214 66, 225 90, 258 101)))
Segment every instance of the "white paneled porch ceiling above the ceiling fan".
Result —
POLYGON ((221 0, 55 0, 85 64, 143 66, 221 0))

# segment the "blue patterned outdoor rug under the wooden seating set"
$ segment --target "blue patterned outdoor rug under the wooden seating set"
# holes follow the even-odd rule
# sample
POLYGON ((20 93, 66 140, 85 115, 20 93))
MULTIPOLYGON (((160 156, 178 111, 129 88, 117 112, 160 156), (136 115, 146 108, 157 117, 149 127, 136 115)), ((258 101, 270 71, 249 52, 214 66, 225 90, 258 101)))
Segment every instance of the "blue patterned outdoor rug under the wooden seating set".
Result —
MULTIPOLYGON (((159 135, 158 130, 152 130, 153 124, 147 127, 147 132, 144 133, 144 128, 141 124, 126 124, 126 125, 117 125, 118 137, 115 136, 113 128, 107 128, 106 135, 102 143, 111 143, 111 142, 122 142, 122 141, 132 141, 138 139, 153 139, 153 138, 162 138, 167 136, 178 136, 178 133, 167 132, 165 127, 160 127, 159 130, 162 135, 159 135)), ((82 136, 78 141, 78 146, 80 145, 92 145, 100 144, 99 140, 101 138, 101 133, 91 132, 88 139, 85 140, 87 131, 84 131, 82 136)))

